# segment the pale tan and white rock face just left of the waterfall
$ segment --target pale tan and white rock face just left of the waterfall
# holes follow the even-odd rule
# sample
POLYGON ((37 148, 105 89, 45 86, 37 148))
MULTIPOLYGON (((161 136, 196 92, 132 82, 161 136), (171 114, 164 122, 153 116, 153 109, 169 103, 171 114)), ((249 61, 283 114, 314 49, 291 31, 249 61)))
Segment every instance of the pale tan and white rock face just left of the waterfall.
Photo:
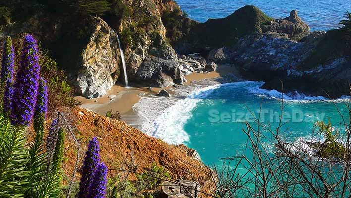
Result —
POLYGON ((80 95, 98 98, 106 95, 119 76, 117 34, 99 17, 90 17, 87 25, 91 34, 73 75, 74 85, 80 95))

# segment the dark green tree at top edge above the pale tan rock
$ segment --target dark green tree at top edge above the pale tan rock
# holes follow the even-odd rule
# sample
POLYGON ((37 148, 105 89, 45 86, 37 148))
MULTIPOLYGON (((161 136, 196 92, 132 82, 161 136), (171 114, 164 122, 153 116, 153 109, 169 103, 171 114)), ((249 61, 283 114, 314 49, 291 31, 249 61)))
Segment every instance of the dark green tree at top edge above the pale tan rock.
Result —
POLYGON ((110 11, 110 6, 107 0, 78 0, 78 10, 84 15, 102 15, 110 11))

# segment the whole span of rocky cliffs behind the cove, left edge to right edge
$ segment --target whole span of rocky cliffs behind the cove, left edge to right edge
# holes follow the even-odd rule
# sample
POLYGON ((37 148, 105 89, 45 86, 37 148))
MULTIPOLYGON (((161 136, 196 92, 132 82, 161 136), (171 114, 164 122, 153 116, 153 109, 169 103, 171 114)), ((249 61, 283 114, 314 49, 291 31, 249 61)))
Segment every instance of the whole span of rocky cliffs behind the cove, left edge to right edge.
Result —
POLYGON ((117 34, 135 86, 182 84, 184 75, 205 71, 207 64, 228 63, 246 79, 265 81, 267 89, 281 91, 283 82, 284 92, 332 98, 349 93, 350 31, 310 32, 295 10, 272 19, 245 6, 226 18, 199 23, 184 17, 172 0, 122 0, 118 9, 118 17, 79 21, 41 11, 2 25, 1 36, 33 32, 42 38, 77 94, 87 98, 106 95, 124 80, 117 34))

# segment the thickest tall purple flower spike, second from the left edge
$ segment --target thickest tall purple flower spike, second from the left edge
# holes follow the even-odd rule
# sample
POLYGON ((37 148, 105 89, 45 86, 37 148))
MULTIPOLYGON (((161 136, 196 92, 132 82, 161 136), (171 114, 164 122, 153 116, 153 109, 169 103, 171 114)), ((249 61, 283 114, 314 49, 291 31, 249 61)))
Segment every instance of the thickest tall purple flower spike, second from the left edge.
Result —
POLYGON ((32 35, 24 36, 21 65, 14 83, 11 122, 13 125, 28 125, 37 102, 40 66, 37 41, 32 35))

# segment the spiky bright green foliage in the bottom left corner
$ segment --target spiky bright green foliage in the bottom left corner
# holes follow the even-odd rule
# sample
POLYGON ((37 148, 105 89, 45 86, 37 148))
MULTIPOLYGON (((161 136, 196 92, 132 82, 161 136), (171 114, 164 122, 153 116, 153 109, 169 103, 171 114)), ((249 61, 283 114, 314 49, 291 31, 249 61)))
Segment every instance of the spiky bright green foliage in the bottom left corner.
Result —
MULTIPOLYGON (((48 162, 46 152, 42 150, 44 142, 38 139, 30 142, 30 145, 36 145, 37 141, 41 141, 41 152, 31 152, 31 147, 25 146, 27 133, 25 128, 12 126, 0 115, 0 197, 59 197, 60 173, 46 171, 48 162), (29 159, 34 159, 34 163, 29 159)), ((63 148, 63 144, 57 145, 54 153, 63 154, 63 148)), ((60 169, 61 162, 55 162, 56 170, 60 169)))

